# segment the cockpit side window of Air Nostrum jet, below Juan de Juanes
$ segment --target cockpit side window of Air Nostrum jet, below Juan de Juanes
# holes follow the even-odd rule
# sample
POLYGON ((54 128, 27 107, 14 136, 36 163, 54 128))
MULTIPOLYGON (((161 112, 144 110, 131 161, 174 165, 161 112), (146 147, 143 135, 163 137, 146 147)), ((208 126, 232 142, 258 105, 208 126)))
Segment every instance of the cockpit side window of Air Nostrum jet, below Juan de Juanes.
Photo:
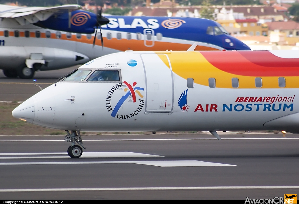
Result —
POLYGON ((91 74, 87 81, 119 81, 117 70, 97 70, 91 74))

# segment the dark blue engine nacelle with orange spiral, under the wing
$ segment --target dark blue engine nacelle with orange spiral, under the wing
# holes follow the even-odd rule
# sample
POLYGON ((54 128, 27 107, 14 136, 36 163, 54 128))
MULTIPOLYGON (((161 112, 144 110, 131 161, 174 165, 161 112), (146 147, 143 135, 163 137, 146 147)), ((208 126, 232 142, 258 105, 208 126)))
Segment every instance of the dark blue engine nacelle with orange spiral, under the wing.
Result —
POLYGON ((69 15, 66 10, 61 14, 54 14, 45 21, 39 21, 34 25, 52 30, 70 33, 94 33, 97 24, 97 15, 88 11, 76 10, 69 15))

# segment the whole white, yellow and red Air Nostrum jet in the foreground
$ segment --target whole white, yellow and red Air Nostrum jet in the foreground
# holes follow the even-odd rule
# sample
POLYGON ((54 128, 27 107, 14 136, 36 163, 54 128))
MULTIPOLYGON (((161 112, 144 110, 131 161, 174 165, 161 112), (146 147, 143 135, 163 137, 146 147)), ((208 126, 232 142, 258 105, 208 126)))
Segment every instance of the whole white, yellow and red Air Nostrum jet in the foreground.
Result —
POLYGON ((12 115, 67 130, 74 158, 80 130, 299 133, 298 64, 286 50, 126 51, 89 61, 12 115))

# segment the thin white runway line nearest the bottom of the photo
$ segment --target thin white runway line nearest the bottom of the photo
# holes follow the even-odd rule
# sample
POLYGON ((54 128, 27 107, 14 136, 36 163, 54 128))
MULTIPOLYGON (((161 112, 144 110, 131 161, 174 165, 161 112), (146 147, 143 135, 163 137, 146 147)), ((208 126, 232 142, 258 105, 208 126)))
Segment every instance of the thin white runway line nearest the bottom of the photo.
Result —
POLYGON ((28 188, 0 189, 0 192, 37 192, 37 191, 144 191, 144 190, 212 190, 212 189, 297 189, 295 186, 198 186, 198 187, 137 187, 137 188, 28 188))

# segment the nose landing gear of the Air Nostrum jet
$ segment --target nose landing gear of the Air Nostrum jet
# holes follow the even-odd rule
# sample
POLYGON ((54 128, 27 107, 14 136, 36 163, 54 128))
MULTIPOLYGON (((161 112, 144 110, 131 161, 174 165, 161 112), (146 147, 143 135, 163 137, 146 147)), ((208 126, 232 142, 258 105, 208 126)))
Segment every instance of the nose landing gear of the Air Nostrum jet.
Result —
POLYGON ((71 146, 68 147, 68 156, 70 156, 71 158, 79 158, 82 153, 83 153, 83 149, 86 149, 83 146, 83 142, 82 142, 82 138, 80 135, 80 131, 71 131, 68 132, 68 130, 65 130, 68 134, 65 136, 65 141, 67 142, 71 142, 71 146), (76 142, 78 145, 76 145, 76 142))

